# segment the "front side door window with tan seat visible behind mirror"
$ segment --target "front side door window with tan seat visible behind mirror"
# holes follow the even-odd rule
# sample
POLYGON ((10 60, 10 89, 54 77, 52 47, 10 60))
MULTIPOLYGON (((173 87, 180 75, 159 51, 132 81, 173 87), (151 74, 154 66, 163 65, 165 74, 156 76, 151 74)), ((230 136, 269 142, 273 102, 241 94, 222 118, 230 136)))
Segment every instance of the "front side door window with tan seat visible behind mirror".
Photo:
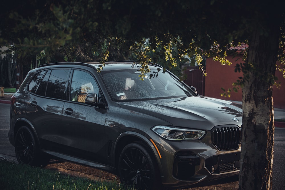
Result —
POLYGON ((71 89, 70 101, 85 102, 87 94, 99 94, 98 85, 92 75, 85 71, 74 70, 71 89))

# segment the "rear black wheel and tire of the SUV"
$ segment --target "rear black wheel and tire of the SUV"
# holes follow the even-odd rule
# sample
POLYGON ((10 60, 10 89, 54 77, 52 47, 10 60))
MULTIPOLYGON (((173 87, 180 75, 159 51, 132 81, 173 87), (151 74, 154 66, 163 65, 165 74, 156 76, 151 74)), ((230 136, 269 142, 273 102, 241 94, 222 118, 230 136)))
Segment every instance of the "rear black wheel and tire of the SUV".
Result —
POLYGON ((32 131, 27 126, 22 126, 15 136, 15 153, 19 164, 31 166, 46 166, 48 157, 43 157, 32 131))

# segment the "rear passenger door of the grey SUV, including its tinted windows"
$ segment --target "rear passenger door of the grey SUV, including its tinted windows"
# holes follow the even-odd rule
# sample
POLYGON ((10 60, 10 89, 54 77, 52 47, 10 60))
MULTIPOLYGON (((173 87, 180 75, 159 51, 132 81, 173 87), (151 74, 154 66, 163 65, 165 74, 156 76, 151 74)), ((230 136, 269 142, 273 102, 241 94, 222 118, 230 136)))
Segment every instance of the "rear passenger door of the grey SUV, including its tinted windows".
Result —
POLYGON ((34 126, 41 148, 57 151, 62 143, 62 109, 66 99, 70 69, 36 73, 27 86, 26 117, 34 126))

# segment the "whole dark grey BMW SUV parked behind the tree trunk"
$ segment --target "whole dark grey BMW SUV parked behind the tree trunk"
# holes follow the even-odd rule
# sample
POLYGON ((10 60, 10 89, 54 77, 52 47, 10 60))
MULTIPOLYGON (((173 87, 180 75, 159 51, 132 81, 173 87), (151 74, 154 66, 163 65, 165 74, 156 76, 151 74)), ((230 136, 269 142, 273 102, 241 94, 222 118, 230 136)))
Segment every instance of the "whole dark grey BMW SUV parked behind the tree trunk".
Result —
POLYGON ((237 175, 242 110, 198 95, 157 64, 54 63, 13 95, 9 140, 21 164, 51 156, 103 169, 141 189, 237 175))

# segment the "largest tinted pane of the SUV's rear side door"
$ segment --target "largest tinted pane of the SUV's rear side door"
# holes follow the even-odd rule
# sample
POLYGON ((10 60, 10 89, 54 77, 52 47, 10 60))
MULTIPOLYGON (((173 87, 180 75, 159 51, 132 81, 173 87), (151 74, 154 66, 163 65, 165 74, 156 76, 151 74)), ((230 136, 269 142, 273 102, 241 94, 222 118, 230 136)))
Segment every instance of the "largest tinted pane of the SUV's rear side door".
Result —
POLYGON ((68 77, 68 69, 55 69, 50 73, 48 86, 46 88, 46 97, 65 99, 65 83, 68 77))

